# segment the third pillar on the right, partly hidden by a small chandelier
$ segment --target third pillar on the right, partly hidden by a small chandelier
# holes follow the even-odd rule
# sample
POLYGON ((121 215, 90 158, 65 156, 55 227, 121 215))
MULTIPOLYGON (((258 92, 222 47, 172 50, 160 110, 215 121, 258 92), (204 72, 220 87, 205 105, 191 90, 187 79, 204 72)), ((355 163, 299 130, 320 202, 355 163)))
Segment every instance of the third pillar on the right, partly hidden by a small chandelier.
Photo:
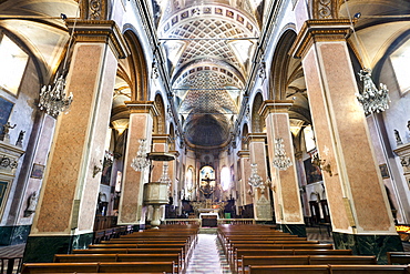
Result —
MULTIPOLYGON (((257 164, 257 173, 262 177, 265 186, 265 189, 253 187, 255 221, 259 223, 271 222, 270 197, 267 185, 265 184, 268 177, 268 166, 266 164, 266 133, 249 133, 247 138, 249 143, 250 164, 257 164)), ((246 177, 246 183, 249 176, 246 177)))

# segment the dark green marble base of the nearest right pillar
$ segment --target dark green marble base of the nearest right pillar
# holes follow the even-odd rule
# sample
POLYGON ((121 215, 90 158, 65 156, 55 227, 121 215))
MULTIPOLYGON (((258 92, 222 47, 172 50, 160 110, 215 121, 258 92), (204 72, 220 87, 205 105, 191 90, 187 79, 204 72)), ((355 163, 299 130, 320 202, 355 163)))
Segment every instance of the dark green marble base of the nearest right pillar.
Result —
POLYGON ((403 251, 399 235, 358 235, 332 232, 336 250, 352 250, 356 255, 375 255, 378 264, 387 264, 387 252, 403 251))

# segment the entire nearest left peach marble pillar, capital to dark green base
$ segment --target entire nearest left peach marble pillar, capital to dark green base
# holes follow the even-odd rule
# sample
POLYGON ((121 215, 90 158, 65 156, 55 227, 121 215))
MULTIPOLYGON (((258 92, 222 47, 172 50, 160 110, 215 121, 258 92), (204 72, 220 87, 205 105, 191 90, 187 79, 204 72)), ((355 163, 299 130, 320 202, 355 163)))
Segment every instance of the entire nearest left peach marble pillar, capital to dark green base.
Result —
MULTIPOLYGON (((70 22, 69 22, 70 23, 70 22)), ((58 118, 24 262, 52 262, 92 243, 117 59, 127 54, 113 21, 78 21, 65 89, 68 114, 58 118)))

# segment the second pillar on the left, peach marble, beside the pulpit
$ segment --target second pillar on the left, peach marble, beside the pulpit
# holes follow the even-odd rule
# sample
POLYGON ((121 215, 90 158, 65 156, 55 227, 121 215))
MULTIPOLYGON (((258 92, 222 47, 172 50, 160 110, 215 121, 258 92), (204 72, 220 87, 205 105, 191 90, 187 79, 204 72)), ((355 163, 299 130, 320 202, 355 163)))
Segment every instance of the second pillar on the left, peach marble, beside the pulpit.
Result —
POLYGON ((144 229, 145 225, 143 192, 144 184, 148 182, 150 166, 143 171, 135 171, 131 168, 131 163, 136 156, 141 139, 146 140, 146 152, 151 152, 153 116, 157 115, 157 110, 153 101, 129 101, 125 103, 131 114, 117 224, 131 224, 134 225, 134 231, 137 231, 144 229))

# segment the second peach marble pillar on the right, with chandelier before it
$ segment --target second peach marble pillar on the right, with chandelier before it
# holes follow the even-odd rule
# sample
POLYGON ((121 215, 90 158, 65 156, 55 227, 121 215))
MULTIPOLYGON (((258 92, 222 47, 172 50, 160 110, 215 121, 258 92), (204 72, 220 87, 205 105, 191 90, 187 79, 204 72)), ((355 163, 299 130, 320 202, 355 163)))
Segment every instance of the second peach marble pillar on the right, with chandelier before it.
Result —
POLYGON ((278 227, 284 232, 306 236, 304 214, 301 211, 295 152, 290 132, 288 110, 293 101, 267 100, 259 109, 266 122, 266 136, 268 142, 271 187, 274 191, 275 217, 278 227), (275 143, 283 140, 286 156, 291 165, 279 170, 271 163, 275 159, 275 143))

